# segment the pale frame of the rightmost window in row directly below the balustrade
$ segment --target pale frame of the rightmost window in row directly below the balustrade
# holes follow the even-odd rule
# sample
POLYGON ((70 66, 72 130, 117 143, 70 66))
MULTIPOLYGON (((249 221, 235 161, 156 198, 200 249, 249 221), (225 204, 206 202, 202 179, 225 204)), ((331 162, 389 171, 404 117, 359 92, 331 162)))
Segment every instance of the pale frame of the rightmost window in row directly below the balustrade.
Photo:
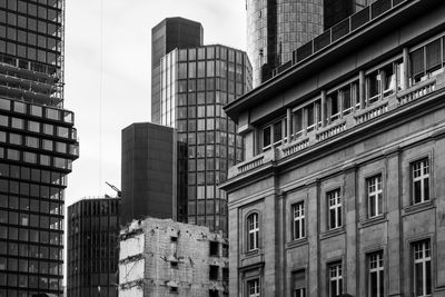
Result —
POLYGON ((422 159, 417 159, 413 162, 409 164, 409 176, 411 176, 411 204, 414 205, 421 205, 424 202, 428 202, 431 200, 431 189, 432 189, 432 174, 431 174, 431 158, 429 157, 424 157, 422 159), (425 166, 424 162, 427 162, 427 165, 425 166), (419 165, 419 171, 421 175, 419 176, 415 176, 416 174, 416 166, 419 165), (425 168, 427 169, 427 174, 425 174, 425 168), (427 180, 427 182, 425 184, 425 180, 427 180), (416 182, 421 182, 421 199, 419 201, 416 201, 416 182), (427 194, 426 194, 426 188, 425 185, 427 185, 427 194), (425 197, 425 196, 428 197, 425 197))

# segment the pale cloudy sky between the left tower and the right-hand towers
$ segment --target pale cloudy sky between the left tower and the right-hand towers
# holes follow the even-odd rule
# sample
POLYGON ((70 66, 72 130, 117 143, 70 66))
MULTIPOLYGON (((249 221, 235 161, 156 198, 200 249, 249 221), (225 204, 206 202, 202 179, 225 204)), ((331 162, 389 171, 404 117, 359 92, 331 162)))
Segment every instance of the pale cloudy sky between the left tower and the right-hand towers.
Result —
POLYGON ((204 27, 205 44, 246 50, 245 0, 66 1, 65 108, 75 112, 80 158, 67 206, 120 189, 121 130, 149 121, 151 28, 168 17, 204 27))

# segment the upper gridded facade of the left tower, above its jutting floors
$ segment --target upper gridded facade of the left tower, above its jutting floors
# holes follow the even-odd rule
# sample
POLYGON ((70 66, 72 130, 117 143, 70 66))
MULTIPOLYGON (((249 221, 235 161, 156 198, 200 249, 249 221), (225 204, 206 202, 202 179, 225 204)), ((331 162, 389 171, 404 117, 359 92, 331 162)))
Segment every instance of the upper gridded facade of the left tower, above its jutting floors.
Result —
POLYGON ((62 106, 62 0, 0 0, 0 93, 62 106))

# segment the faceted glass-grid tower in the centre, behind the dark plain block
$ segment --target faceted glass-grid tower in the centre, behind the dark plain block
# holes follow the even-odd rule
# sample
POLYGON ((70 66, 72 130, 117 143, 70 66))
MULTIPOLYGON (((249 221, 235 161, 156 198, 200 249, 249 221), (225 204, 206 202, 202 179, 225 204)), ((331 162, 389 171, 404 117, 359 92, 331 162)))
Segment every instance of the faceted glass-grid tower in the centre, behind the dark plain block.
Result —
POLYGON ((243 138, 222 106, 251 88, 244 51, 225 46, 175 49, 161 59, 161 123, 187 143, 189 224, 227 231, 227 201, 219 182, 243 160, 243 138))

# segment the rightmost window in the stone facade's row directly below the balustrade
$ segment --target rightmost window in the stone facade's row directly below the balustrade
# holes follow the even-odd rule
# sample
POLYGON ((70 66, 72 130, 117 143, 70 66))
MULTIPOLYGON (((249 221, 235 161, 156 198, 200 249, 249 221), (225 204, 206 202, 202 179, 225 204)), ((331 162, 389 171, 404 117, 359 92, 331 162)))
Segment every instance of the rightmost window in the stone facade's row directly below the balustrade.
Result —
POLYGON ((423 159, 412 165, 413 171, 413 204, 429 200, 429 160, 423 159))

